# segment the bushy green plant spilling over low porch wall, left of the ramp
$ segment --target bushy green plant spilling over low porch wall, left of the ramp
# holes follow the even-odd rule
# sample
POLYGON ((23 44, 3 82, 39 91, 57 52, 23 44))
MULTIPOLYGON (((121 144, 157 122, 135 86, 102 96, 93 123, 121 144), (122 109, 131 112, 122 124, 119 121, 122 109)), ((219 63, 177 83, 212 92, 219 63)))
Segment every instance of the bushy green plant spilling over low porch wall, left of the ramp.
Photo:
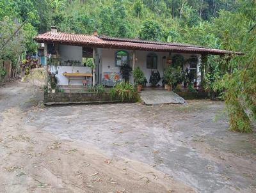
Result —
POLYGON ((114 96, 120 98, 122 102, 125 100, 131 101, 134 95, 134 89, 130 82, 118 82, 113 89, 111 89, 111 98, 114 96))

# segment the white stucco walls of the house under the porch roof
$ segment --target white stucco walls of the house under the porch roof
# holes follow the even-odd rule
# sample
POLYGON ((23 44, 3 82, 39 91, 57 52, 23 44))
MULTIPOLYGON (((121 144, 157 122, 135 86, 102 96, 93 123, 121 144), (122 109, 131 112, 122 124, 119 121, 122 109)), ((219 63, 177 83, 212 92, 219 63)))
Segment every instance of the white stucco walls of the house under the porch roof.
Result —
MULTIPOLYGON (((115 66, 115 53, 118 51, 118 49, 97 49, 96 53, 99 54, 99 77, 100 77, 100 84, 102 75, 104 72, 113 72, 113 73, 120 73, 120 68, 115 66)), ((129 53, 129 64, 132 66, 132 50, 126 50, 129 53)), ((147 68, 147 54, 150 52, 147 51, 140 51, 136 50, 136 58, 138 59, 135 63, 136 66, 140 66, 141 70, 143 70, 145 77, 147 78, 147 81, 149 82, 151 70, 154 70, 154 72, 159 71, 161 77, 163 77, 164 68, 166 68, 168 65, 166 64, 166 58, 169 56, 168 52, 154 52, 157 55, 157 69, 150 69, 147 68), (164 59, 165 57, 165 59, 164 59)), ((65 66, 65 62, 67 60, 76 60, 81 61, 83 60, 83 47, 78 46, 72 46, 72 45, 59 45, 59 54, 61 58, 61 64, 64 66, 58 67, 58 79, 60 80, 59 85, 68 85, 68 78, 63 76, 63 72, 77 72, 79 70, 80 73, 92 73, 91 68, 83 67, 83 66, 65 66)), ((175 54, 180 53, 171 53, 171 58, 175 54)), ((191 56, 198 56, 198 65, 197 65, 197 81, 200 82, 200 54, 180 54, 184 56, 184 59, 188 59, 191 56)), ((189 66, 188 66, 189 67, 189 66)), ((184 69, 186 69, 186 65, 184 66, 184 69)), ((51 69, 51 72, 55 72, 56 69, 51 69)), ((132 73, 132 72, 131 72, 132 73)), ((74 77, 73 77, 74 79, 74 77)), ((71 81, 72 85, 82 85, 81 77, 77 78, 76 80, 71 81)), ((133 82, 132 75, 130 76, 130 82, 133 82)), ((158 84, 161 85, 162 80, 159 81, 158 84)), ((147 85, 150 85, 149 83, 147 85)))

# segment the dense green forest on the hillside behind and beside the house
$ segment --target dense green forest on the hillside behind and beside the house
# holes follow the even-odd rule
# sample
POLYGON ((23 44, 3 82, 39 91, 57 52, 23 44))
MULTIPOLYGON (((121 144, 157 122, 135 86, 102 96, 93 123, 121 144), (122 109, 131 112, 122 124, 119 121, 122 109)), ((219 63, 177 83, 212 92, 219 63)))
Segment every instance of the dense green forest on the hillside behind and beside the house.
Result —
POLYGON ((250 132, 256 120, 255 24, 254 0, 0 0, 0 59, 17 65, 24 52, 36 51, 33 37, 51 26, 241 51, 239 57, 207 56, 204 87, 225 100, 232 130, 250 132))

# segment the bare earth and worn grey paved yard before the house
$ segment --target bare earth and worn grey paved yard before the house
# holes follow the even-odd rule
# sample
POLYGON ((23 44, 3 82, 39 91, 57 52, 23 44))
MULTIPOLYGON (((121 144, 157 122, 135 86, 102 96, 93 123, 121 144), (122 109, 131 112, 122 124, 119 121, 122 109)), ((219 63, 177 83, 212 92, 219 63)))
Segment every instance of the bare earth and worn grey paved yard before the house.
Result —
POLYGON ((0 192, 256 192, 256 136, 223 102, 40 107, 0 88, 0 192))

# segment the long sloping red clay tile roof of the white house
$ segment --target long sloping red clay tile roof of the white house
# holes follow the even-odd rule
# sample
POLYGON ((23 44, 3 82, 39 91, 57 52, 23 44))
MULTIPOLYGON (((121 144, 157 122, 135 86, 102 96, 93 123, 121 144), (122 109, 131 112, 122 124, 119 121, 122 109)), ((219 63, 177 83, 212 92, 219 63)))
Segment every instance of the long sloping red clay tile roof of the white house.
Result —
MULTIPOLYGON (((89 36, 71 33, 47 32, 36 36, 37 42, 59 42, 66 45, 83 45, 87 47, 102 47, 109 49, 147 50, 156 52, 185 52, 198 54, 232 54, 228 50, 209 49, 196 45, 181 43, 152 42, 145 40, 109 38, 106 36, 89 36)), ((236 52, 236 54, 241 54, 236 52)))

